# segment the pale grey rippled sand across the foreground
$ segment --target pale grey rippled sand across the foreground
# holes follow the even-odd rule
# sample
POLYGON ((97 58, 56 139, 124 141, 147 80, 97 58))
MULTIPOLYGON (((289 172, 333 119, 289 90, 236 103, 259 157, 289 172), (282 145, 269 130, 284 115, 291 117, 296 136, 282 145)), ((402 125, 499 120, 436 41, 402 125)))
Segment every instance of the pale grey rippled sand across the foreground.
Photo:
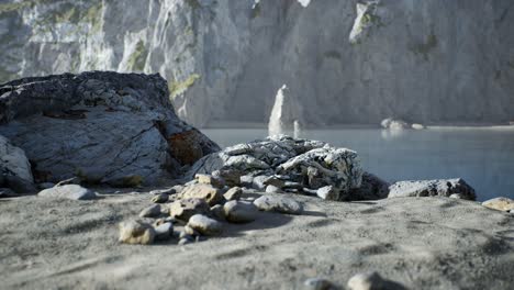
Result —
POLYGON ((186 246, 118 242, 148 194, 0 200, 0 288, 303 289, 323 277, 345 289, 377 270, 410 289, 514 289, 513 215, 446 198, 291 197, 304 214, 262 213, 186 246))

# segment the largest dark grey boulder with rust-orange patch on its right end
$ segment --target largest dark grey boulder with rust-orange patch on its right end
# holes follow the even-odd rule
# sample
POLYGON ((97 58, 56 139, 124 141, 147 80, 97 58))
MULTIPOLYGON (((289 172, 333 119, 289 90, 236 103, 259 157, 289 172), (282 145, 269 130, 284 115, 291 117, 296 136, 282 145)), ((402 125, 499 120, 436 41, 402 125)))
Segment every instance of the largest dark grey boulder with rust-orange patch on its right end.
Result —
POLYGON ((0 85, 0 133, 25 150, 38 181, 149 185, 219 149, 176 116, 159 75, 26 78, 0 85))

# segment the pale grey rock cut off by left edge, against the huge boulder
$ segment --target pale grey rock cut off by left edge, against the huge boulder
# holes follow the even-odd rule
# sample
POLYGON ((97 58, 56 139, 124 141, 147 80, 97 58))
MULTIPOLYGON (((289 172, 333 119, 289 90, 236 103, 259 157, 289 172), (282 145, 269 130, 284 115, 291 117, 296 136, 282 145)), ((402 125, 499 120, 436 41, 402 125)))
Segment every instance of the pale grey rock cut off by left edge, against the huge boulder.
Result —
POLYGON ((14 146, 2 135, 0 135, 0 176, 19 178, 27 183, 34 182, 31 164, 23 149, 14 146))

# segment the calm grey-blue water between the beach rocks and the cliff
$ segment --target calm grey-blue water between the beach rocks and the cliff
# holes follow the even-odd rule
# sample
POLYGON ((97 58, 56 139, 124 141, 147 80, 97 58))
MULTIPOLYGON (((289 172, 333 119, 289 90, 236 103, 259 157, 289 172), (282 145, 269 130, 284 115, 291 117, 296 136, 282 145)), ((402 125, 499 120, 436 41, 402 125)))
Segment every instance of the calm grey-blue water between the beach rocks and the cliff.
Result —
MULTIPOLYGON (((268 135, 265 129, 202 132, 221 146, 268 135)), ((514 129, 310 130, 300 137, 354 149, 367 171, 390 182, 461 177, 477 190, 479 200, 514 199, 514 129)))

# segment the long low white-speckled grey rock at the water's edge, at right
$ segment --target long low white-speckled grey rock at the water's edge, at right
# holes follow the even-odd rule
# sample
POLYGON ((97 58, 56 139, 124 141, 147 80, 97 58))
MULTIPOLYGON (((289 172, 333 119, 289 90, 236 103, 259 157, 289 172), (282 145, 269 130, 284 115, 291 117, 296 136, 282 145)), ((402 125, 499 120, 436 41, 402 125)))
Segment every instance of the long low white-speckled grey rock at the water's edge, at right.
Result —
POLYGON ((474 189, 461 178, 399 181, 389 187, 388 198, 450 197, 454 193, 460 194, 466 200, 477 198, 474 189))

